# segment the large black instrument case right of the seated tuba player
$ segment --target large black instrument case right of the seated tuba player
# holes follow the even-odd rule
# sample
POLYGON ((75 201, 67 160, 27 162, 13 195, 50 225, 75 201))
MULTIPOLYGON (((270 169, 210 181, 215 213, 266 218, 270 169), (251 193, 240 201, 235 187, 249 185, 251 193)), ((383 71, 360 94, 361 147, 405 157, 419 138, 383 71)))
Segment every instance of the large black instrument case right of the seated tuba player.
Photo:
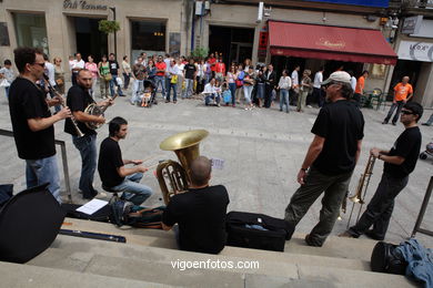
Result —
POLYGON ((230 212, 226 215, 226 232, 229 246, 284 251, 285 240, 292 238, 294 227, 264 214, 230 212), (248 228, 245 225, 260 225, 266 230, 248 228))

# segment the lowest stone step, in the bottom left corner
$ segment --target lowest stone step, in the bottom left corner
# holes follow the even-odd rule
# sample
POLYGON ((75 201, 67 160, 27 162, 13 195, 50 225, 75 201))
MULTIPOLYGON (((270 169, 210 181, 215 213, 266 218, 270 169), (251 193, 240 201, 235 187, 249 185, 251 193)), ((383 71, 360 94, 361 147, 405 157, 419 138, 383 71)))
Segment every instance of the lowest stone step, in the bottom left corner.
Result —
POLYGON ((175 287, 128 278, 0 261, 1 287, 20 288, 143 288, 175 287))

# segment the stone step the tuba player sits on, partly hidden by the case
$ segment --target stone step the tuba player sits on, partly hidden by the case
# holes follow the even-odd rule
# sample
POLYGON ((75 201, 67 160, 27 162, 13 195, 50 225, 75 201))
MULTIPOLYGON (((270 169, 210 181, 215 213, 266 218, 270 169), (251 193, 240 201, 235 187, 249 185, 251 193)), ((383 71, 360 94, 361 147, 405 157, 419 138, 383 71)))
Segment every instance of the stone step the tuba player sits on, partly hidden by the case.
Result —
MULTIPOLYGON (((81 220, 73 218, 66 218, 63 225, 64 229, 88 230, 103 234, 122 235, 128 243, 138 244, 151 247, 162 247, 177 249, 174 235, 172 232, 163 232, 158 229, 140 229, 123 226, 121 228, 109 224, 90 220, 81 220)), ((323 247, 306 246, 303 234, 294 234, 290 241, 286 241, 284 253, 291 255, 310 255, 310 256, 325 256, 334 258, 358 259, 362 261, 370 261, 370 256, 376 241, 370 239, 353 239, 331 236, 328 238, 323 247)), ((243 249, 226 246, 221 254, 232 255, 251 250, 254 255, 256 249, 243 249)), ((280 253, 275 253, 280 255, 280 253)), ((283 257, 283 256, 275 256, 283 257)))

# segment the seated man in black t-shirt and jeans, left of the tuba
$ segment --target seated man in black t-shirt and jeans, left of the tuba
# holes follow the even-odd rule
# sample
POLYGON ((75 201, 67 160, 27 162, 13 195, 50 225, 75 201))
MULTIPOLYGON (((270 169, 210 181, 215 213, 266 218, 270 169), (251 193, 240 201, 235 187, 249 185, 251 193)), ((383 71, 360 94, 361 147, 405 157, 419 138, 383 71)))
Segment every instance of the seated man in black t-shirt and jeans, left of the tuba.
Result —
POLYGON ((128 122, 114 117, 109 124, 110 136, 101 143, 98 161, 99 176, 102 187, 109 192, 123 192, 122 199, 141 205, 152 195, 152 189, 140 184, 143 173, 148 171, 140 160, 123 160, 119 141, 128 134, 128 122), (125 167, 133 164, 133 167, 125 167))

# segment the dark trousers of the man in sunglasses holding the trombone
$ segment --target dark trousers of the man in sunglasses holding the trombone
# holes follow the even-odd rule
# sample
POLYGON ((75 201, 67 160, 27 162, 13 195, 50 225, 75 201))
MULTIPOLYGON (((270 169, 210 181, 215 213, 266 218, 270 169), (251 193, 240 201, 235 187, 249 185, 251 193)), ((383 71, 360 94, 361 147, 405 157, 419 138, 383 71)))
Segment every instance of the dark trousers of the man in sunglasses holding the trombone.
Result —
POLYGON ((377 189, 370 200, 366 210, 355 226, 349 229, 354 237, 360 237, 373 225, 373 234, 377 239, 384 239, 394 209, 394 199, 407 185, 409 176, 396 178, 387 173, 382 174, 377 189))

